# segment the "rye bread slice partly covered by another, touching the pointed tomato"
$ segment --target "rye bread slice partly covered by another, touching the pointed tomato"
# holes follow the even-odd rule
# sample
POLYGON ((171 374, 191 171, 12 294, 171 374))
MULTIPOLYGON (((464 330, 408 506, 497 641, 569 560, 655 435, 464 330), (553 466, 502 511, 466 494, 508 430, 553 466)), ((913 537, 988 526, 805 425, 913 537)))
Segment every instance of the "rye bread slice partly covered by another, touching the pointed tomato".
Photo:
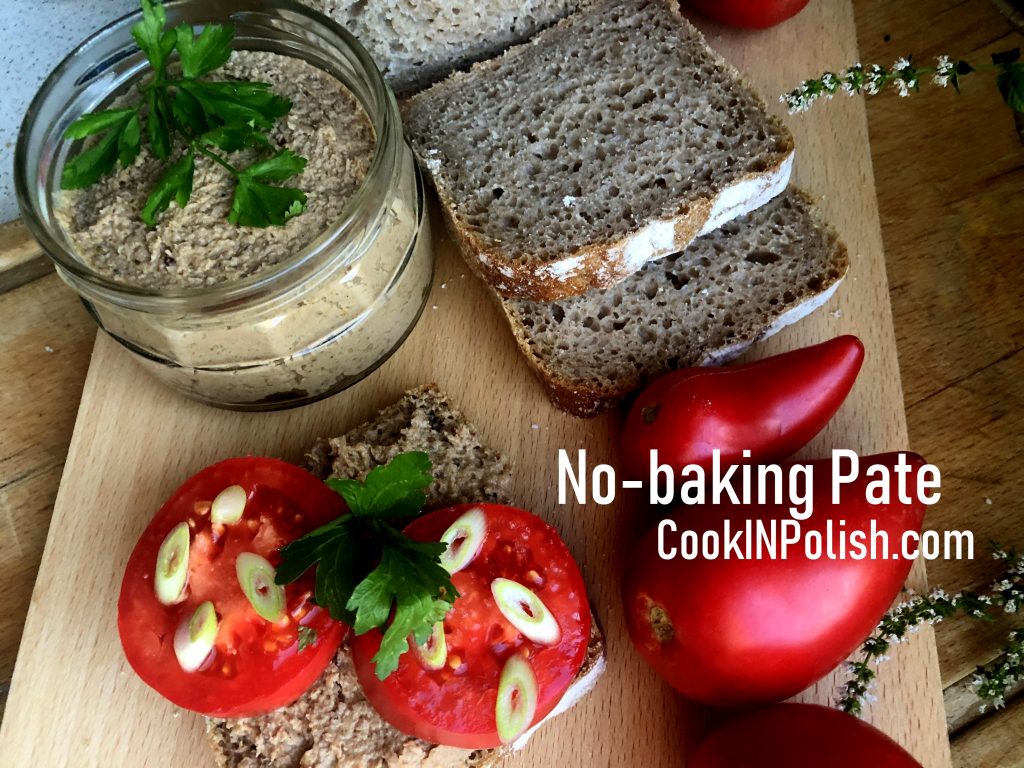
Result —
POLYGON ((827 301, 848 266, 839 236, 791 188, 613 288, 500 301, 551 400, 590 417, 668 371, 740 354, 827 301))

